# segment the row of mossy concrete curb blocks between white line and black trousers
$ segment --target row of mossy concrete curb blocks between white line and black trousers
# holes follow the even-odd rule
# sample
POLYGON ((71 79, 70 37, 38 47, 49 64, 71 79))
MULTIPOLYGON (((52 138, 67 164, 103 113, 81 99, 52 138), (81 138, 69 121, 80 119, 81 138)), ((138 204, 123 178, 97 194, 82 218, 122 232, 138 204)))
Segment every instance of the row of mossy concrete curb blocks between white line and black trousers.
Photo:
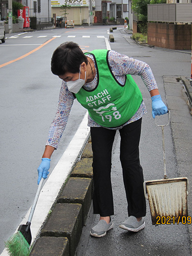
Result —
POLYGON ((92 200, 91 140, 56 198, 30 256, 74 256, 92 200))

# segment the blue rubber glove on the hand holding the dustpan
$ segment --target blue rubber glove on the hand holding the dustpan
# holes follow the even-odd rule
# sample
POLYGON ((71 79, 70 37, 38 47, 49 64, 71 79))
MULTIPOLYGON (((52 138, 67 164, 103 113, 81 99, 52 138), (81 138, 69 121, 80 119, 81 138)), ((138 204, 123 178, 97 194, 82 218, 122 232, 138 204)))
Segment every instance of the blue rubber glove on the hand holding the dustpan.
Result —
POLYGON ((152 100, 152 116, 155 118, 155 116, 160 116, 167 114, 168 108, 163 103, 160 95, 155 95, 151 97, 152 100))

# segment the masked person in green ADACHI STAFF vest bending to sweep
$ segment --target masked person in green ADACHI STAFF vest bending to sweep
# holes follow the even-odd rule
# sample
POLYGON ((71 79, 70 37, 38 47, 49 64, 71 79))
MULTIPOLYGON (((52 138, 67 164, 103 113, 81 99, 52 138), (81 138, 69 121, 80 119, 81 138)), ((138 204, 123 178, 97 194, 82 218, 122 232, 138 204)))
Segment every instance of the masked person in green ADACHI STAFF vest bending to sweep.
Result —
POLYGON ((152 115, 168 112, 154 75, 143 61, 134 60, 113 50, 96 49, 83 53, 73 42, 60 45, 53 53, 51 71, 62 79, 59 105, 51 124, 38 183, 47 178, 50 158, 58 147, 76 98, 88 110, 93 149, 94 213, 100 215, 91 235, 102 237, 113 227, 111 188, 111 151, 116 131, 120 132, 120 161, 128 202, 128 219, 120 228, 137 232, 144 228, 146 203, 143 169, 139 159, 142 117, 146 113, 139 87, 131 75, 141 76, 152 99, 152 115))

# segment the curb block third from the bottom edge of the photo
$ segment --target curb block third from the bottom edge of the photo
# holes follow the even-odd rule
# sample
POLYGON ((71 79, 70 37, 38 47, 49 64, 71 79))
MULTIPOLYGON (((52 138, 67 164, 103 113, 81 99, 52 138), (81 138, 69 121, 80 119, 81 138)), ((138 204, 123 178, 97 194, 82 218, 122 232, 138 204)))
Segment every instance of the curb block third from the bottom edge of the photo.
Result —
POLYGON ((89 178, 71 177, 58 197, 58 203, 81 204, 83 225, 85 224, 92 197, 92 180, 89 178))

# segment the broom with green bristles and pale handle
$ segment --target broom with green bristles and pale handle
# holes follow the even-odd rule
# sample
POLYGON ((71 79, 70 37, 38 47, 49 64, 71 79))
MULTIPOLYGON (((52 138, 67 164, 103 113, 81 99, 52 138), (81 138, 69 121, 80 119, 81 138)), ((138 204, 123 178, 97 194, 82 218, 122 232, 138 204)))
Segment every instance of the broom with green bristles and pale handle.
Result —
POLYGON ((30 230, 31 220, 33 218, 33 214, 36 208, 36 203, 37 203, 41 188, 43 186, 43 182, 44 182, 44 179, 42 178, 38 185, 36 196, 35 196, 33 205, 31 207, 31 212, 29 214, 29 218, 26 222, 26 225, 24 224, 20 225, 18 228, 18 231, 15 234, 13 234, 5 244, 5 247, 10 256, 28 256, 30 254, 29 247, 32 240, 32 235, 30 230))

